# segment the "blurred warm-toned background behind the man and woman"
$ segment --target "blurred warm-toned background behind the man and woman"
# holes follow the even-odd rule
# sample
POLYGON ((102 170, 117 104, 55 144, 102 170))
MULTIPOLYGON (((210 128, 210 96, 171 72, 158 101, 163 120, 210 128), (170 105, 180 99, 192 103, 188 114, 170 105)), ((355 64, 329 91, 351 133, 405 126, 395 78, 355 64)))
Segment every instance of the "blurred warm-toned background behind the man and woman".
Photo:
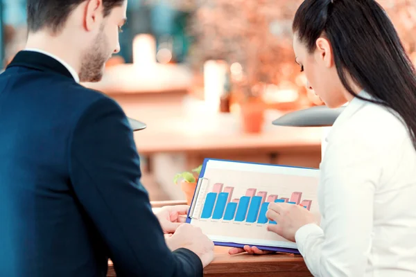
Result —
MULTIPOLYGON (((271 124, 322 105, 293 54, 291 23, 301 2, 128 1, 121 52, 101 82, 83 85, 146 123, 135 141, 151 200, 185 199, 189 184, 174 177, 205 158, 318 168, 324 129, 271 124)), ((379 3, 416 62, 415 0, 379 3)), ((4 68, 26 43, 26 1, 1 0, 0 24, 4 68)))

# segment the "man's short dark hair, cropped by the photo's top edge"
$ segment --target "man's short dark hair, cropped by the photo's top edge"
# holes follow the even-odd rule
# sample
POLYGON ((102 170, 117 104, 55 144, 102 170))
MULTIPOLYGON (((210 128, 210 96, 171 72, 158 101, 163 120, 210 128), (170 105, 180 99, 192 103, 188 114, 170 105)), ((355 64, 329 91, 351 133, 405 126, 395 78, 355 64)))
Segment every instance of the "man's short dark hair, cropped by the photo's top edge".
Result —
MULTIPOLYGON (((59 32, 71 12, 86 0, 27 0, 28 30, 36 32, 50 28, 59 32)), ((112 8, 121 6, 124 0, 103 0, 104 16, 110 15, 112 8)))

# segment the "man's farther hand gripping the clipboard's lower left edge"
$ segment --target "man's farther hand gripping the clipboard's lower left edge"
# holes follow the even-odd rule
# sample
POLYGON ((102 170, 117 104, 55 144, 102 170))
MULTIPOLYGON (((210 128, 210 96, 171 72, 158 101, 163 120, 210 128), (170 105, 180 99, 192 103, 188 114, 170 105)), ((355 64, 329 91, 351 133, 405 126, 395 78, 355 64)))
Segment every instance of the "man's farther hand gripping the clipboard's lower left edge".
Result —
POLYGON ((187 205, 164 206, 156 211, 155 215, 163 232, 169 234, 175 233, 177 227, 186 222, 188 210, 189 206, 187 205))

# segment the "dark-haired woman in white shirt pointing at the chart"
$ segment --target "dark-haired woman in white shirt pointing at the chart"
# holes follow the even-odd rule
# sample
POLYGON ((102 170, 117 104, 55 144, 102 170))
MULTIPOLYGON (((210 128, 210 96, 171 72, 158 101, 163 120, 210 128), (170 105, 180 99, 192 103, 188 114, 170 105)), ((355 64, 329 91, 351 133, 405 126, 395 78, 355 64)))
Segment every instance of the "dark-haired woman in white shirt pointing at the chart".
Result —
POLYGON ((274 203, 269 231, 295 241, 314 276, 416 276, 416 78, 395 28, 373 0, 306 0, 293 32, 309 89, 349 105, 320 166, 320 226, 274 203))

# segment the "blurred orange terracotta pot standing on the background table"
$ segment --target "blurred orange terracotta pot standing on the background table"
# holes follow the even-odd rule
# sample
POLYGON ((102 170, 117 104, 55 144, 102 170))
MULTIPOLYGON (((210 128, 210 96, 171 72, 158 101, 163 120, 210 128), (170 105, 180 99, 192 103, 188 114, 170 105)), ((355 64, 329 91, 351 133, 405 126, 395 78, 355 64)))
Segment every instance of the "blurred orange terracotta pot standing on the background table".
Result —
POLYGON ((264 103, 256 98, 241 103, 243 131, 260 133, 264 123, 264 103))

